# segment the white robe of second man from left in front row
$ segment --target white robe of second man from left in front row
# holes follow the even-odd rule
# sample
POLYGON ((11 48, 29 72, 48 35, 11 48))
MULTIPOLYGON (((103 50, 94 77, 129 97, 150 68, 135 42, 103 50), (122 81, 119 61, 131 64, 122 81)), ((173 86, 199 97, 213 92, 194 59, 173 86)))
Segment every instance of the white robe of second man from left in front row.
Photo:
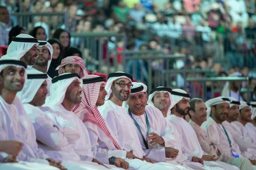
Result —
MULTIPOLYGON (((49 107, 35 107, 30 104, 25 104, 24 106, 31 110, 31 113, 28 115, 32 122, 34 121, 33 125, 36 129, 37 140, 44 143, 42 145, 39 144, 39 146, 47 155, 57 161, 62 161, 62 165, 70 170, 104 169, 104 167, 94 162, 81 161, 73 148, 74 144, 68 143, 65 135, 66 131, 58 125, 56 114, 52 109, 49 107)), ((67 131, 71 132, 70 129, 67 131)))

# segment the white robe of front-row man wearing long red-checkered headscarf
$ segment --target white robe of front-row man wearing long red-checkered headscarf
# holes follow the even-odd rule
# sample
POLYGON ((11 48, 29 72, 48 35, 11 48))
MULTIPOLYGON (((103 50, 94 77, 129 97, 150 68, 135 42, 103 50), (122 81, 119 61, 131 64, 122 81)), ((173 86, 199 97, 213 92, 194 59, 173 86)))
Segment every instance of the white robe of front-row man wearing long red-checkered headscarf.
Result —
MULTIPOLYGON (((105 124, 110 134, 112 135, 112 137, 119 144, 117 138, 113 135, 112 130, 108 126, 108 123, 105 122, 105 124)), ((125 158, 126 151, 124 151, 123 148, 121 148, 122 150, 117 150, 112 140, 106 135, 106 133, 99 126, 91 122, 84 122, 84 125, 86 126, 88 133, 90 135, 92 151, 103 152, 108 154, 109 156, 116 156, 119 158, 123 158, 129 163, 130 168, 134 168, 138 170, 144 170, 144 169, 155 170, 157 168, 162 168, 161 166, 158 166, 156 164, 151 164, 146 161, 141 161, 140 159, 126 159, 125 158)))

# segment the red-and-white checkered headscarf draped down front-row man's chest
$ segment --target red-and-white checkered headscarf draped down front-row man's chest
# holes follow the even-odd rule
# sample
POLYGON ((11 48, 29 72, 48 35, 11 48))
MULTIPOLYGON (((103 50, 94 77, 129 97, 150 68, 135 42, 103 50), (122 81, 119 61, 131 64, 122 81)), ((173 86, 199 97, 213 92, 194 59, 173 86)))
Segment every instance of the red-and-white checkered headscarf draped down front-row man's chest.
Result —
MULTIPOLYGON (((83 79, 86 78, 95 78, 99 77, 96 75, 87 75, 83 79)), ((83 92, 82 92, 82 101, 75 105, 72 111, 79 117, 83 122, 91 122, 97 125, 100 129, 102 129, 105 134, 112 140, 116 149, 121 149, 121 147, 117 144, 116 140, 110 134, 104 119, 100 115, 100 112, 96 106, 96 102, 100 93, 100 85, 105 84, 106 82, 95 82, 83 84, 83 92)))

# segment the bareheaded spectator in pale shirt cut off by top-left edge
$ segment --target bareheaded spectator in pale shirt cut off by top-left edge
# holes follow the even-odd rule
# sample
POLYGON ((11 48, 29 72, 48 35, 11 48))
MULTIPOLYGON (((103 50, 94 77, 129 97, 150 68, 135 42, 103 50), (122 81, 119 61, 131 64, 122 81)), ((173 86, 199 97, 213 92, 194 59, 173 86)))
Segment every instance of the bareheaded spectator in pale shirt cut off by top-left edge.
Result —
POLYGON ((9 11, 5 6, 0 6, 0 45, 7 46, 9 41, 9 11))

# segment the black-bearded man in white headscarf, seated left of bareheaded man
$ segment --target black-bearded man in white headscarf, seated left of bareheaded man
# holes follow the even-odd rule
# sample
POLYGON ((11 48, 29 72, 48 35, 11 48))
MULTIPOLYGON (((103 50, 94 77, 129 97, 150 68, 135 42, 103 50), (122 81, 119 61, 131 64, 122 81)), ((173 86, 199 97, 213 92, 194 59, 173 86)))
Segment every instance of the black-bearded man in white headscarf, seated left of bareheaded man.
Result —
POLYGON ((203 168, 205 169, 235 169, 234 166, 230 167, 230 165, 224 162, 215 162, 214 155, 208 155, 202 150, 193 127, 183 119, 183 116, 188 114, 188 109, 190 107, 188 103, 189 99, 189 94, 184 90, 173 89, 171 107, 172 114, 167 117, 167 120, 177 129, 179 141, 181 142, 182 153, 188 156, 188 160, 204 164, 203 168))

